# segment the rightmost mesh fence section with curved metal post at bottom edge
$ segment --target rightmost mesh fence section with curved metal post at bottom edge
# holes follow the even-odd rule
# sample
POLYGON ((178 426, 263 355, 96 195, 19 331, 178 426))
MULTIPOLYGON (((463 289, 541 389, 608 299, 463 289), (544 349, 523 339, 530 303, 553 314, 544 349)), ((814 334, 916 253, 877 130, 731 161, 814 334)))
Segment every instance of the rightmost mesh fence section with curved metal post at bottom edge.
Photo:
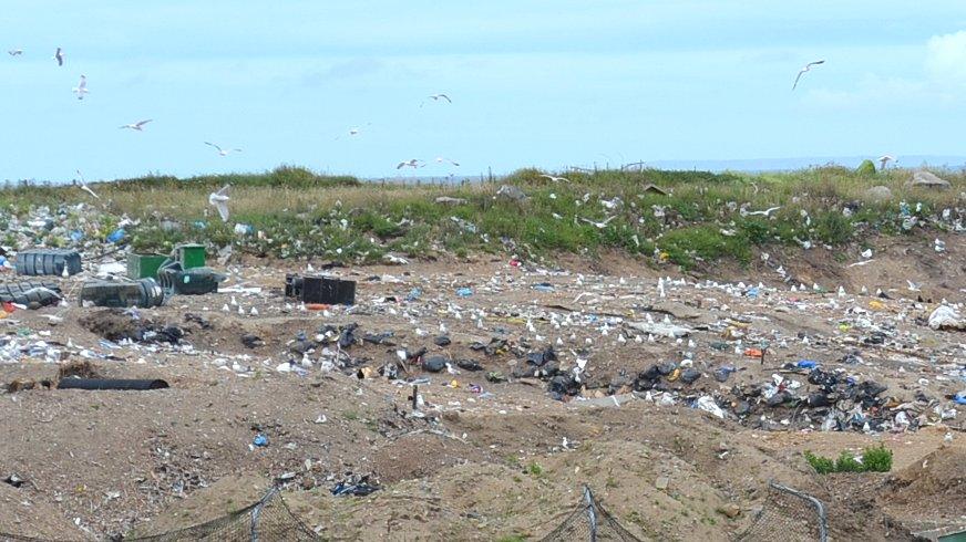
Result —
POLYGON ((769 482, 768 498, 739 541, 825 542, 825 507, 814 497, 769 482))

